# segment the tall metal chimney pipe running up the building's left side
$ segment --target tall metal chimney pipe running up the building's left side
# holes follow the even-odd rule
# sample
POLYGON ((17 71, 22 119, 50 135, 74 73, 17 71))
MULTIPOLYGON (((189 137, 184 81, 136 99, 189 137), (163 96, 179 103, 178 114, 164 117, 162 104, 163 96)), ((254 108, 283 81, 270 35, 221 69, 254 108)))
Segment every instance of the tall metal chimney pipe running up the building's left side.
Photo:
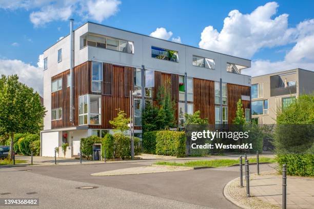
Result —
POLYGON ((73 65, 74 65, 73 22, 74 19, 70 19, 70 122, 73 122, 73 65))

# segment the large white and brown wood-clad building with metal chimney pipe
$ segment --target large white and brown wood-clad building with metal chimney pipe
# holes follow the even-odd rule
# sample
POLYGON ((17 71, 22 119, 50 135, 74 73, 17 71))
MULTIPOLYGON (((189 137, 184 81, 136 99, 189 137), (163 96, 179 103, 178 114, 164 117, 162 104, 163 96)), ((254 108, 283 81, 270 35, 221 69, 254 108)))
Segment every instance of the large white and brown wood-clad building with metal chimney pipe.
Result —
POLYGON ((70 145, 66 156, 76 156, 81 138, 111 131, 116 109, 129 115, 130 90, 143 95, 134 99, 141 137, 142 109, 156 103, 167 81, 178 123, 197 110, 211 124, 232 123, 240 98, 250 120, 251 77, 241 74, 251 66, 248 59, 88 22, 48 48, 44 62, 43 156, 53 156, 63 142, 70 145))

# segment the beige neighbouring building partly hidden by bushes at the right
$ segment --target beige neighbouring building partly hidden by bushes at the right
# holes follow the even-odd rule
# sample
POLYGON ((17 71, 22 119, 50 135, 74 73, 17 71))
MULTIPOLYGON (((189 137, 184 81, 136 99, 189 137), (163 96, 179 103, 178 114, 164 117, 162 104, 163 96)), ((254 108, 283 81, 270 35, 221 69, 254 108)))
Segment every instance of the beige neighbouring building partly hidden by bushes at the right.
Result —
POLYGON ((252 122, 276 123, 277 112, 300 94, 314 91, 314 72, 294 69, 252 77, 252 122))

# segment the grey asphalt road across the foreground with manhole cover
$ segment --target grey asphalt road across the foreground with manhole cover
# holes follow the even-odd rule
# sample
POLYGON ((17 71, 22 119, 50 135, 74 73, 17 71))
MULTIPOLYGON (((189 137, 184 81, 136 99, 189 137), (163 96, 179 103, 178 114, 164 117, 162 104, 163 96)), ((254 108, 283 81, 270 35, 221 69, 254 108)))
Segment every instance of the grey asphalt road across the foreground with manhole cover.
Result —
MULTIPOLYGON (((40 208, 239 208, 223 196, 225 184, 238 177, 238 167, 90 176, 91 173, 135 166, 142 165, 108 163, 0 168, 0 193, 11 193, 0 195, 0 198, 40 198, 40 208), (76 189, 89 185, 98 188, 76 189), (26 195, 30 192, 37 194, 26 195)), ((250 169, 255 171, 254 166, 250 169)), ((261 171, 270 169, 266 164, 261 165, 261 171)))

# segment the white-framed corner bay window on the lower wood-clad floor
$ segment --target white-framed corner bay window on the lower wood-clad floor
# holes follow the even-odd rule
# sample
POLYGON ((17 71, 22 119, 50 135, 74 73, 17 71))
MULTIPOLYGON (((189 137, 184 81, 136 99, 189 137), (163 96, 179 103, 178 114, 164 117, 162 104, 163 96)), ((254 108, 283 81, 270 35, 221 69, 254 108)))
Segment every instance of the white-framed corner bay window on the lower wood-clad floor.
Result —
POLYGON ((102 103, 100 95, 84 95, 78 97, 78 124, 100 125, 102 103))

